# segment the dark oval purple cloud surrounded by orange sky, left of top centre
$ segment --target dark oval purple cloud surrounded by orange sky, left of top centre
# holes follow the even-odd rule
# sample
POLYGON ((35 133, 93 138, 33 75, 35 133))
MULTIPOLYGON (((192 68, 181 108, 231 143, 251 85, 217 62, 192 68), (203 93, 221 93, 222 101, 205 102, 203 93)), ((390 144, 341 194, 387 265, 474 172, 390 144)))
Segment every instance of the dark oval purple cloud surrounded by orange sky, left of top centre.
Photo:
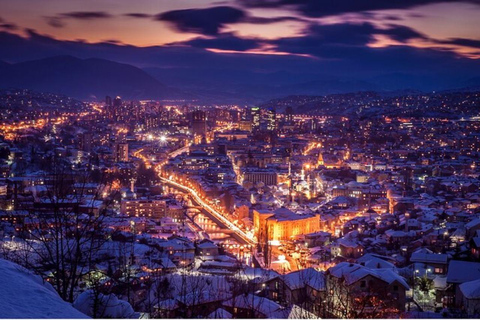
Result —
POLYGON ((220 6, 167 11, 157 14, 155 19, 169 22, 179 31, 216 35, 224 25, 240 22, 245 17, 242 10, 220 6))

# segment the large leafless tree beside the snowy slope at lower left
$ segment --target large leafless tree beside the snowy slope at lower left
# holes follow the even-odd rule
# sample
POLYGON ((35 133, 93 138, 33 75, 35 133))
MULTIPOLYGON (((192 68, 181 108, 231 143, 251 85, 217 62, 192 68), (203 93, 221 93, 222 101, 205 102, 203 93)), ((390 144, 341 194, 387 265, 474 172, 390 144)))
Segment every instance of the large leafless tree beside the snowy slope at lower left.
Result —
POLYGON ((104 210, 98 206, 103 201, 101 190, 88 194, 89 174, 73 171, 60 159, 54 161, 45 176, 46 195, 27 208, 26 250, 16 250, 20 264, 48 274, 60 296, 71 302, 107 239, 104 210))

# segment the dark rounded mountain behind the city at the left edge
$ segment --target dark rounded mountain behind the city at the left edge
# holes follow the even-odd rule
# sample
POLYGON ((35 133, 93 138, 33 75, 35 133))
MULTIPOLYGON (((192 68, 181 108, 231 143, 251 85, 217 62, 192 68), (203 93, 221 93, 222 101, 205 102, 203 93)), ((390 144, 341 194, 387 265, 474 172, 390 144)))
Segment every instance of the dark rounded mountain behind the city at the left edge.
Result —
POLYGON ((16 64, 0 62, 0 88, 26 88, 78 99, 172 99, 188 96, 128 65, 103 59, 56 56, 16 64))

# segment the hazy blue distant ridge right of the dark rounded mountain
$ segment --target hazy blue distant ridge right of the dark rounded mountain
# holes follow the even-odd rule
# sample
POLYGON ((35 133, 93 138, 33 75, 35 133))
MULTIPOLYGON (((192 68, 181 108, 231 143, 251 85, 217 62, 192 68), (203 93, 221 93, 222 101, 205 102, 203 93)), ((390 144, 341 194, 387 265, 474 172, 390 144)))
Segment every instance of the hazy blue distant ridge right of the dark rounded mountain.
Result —
MULTIPOLYGON (((464 79, 448 76, 388 73, 365 79, 352 76, 301 72, 197 68, 146 68, 160 82, 167 82, 199 99, 217 103, 258 104, 287 95, 329 95, 375 91, 385 95, 432 92, 458 88, 464 79)), ((359 76, 359 75, 357 75, 359 76)), ((477 79, 470 79, 469 84, 477 79)), ((466 85, 465 85, 466 86, 466 85)))

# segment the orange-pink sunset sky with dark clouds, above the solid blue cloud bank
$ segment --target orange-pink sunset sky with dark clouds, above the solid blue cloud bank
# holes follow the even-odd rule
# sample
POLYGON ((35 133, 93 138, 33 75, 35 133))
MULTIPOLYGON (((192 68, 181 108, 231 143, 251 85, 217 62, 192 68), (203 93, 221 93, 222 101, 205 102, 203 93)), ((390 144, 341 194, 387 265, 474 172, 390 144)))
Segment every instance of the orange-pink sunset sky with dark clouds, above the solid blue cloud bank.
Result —
POLYGON ((0 0, 0 6, 3 31, 24 37, 33 29, 57 40, 320 59, 331 57, 312 47, 338 39, 339 45, 402 45, 480 57, 478 0, 0 0))

